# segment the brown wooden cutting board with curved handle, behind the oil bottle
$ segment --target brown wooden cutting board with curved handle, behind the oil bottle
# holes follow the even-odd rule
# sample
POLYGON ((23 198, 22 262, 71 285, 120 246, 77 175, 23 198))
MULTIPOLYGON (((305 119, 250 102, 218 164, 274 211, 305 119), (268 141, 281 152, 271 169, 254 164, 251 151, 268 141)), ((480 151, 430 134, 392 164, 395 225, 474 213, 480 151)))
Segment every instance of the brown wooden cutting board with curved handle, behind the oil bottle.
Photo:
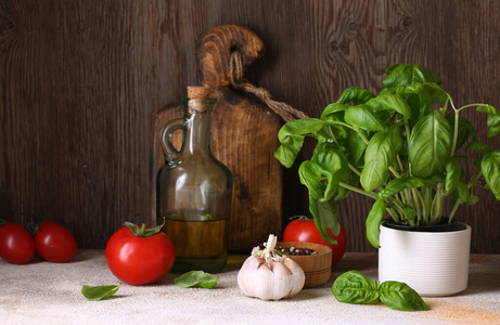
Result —
MULTIPOLYGON (((200 37, 195 49, 202 84, 210 87, 218 100, 213 112, 211 152, 233 174, 229 250, 235 252, 248 253, 254 246, 266 242, 269 234, 282 234, 282 167, 273 157, 279 146, 281 118, 258 99, 234 90, 229 75, 232 51, 241 51, 246 69, 264 50, 256 34, 235 25, 208 29, 200 37)), ((155 171, 165 166, 159 131, 165 122, 180 117, 180 103, 159 107, 154 113, 155 171)), ((180 143, 179 139, 175 141, 180 143)), ((155 222, 155 188, 152 190, 151 211, 155 222)))

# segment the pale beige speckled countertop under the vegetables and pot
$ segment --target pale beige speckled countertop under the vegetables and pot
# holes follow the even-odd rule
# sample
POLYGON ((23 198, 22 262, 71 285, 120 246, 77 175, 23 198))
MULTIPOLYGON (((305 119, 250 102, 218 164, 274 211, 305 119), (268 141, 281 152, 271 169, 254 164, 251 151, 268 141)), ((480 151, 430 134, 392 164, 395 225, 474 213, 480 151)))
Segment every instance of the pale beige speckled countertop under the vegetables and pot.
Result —
POLYGON ((65 264, 34 260, 13 265, 0 260, 0 323, 7 324, 500 324, 500 256, 471 257, 469 287, 453 297, 426 298, 425 312, 383 304, 339 303, 331 292, 339 274, 358 270, 376 280, 376 253, 346 253, 330 281, 289 300, 243 296, 236 274, 245 257, 231 256, 214 289, 182 289, 168 274, 149 286, 124 284, 113 299, 88 301, 86 285, 119 281, 103 250, 79 250, 65 264))

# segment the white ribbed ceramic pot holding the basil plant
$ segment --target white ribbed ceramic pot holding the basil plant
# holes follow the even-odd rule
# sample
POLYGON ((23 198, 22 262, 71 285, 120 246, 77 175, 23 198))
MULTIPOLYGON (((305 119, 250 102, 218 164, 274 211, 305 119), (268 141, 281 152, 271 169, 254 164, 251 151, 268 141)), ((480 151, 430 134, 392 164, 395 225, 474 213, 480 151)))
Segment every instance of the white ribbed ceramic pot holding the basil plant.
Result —
MULTIPOLYGON (((408 231, 381 225, 379 281, 408 284, 421 296, 451 296, 469 281, 471 226, 453 231, 408 231)), ((425 229, 425 227, 424 227, 425 229)))

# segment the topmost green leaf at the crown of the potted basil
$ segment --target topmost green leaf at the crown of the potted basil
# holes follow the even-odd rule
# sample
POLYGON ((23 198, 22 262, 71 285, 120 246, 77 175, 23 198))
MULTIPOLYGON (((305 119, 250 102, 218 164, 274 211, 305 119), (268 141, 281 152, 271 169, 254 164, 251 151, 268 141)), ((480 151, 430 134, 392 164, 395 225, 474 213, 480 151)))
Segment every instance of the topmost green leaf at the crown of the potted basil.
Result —
POLYGON ((441 83, 439 77, 421 66, 420 64, 398 63, 386 69, 387 77, 382 81, 389 90, 396 90, 400 86, 409 86, 416 82, 441 83))

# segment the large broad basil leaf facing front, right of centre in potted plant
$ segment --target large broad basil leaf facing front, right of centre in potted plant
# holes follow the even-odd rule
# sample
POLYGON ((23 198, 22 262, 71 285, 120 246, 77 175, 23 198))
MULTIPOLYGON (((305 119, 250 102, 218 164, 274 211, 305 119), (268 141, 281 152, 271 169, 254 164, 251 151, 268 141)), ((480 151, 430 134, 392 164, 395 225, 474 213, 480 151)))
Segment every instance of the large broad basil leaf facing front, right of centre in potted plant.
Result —
POLYGON ((434 171, 440 170, 450 153, 451 142, 451 127, 438 112, 419 120, 408 141, 412 176, 427 178, 434 171))

